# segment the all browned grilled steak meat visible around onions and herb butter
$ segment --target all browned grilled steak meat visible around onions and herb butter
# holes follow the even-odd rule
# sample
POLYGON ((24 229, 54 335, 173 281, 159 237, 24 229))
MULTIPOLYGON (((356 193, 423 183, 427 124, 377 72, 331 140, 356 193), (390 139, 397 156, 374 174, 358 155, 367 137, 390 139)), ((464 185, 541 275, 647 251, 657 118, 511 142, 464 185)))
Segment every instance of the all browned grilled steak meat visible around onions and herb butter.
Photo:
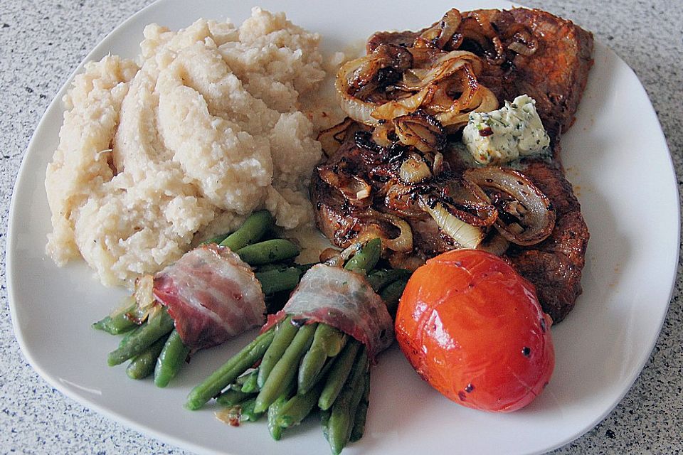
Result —
MULTIPOLYGON (((482 85, 492 90, 499 102, 524 93, 533 97, 551 135, 554 159, 522 159, 520 171, 550 201, 555 215, 554 228, 549 237, 536 245, 512 243, 503 257, 536 286, 541 306, 557 323, 571 311, 581 294, 581 270, 589 237, 581 207, 558 161, 559 137, 571 126, 586 85, 592 64, 593 38, 571 21, 544 11, 485 10, 462 14, 468 15, 485 16, 499 33, 505 49, 504 58, 498 55, 494 59, 492 49, 481 43, 460 42, 460 49, 470 50, 485 61, 478 78, 482 85), (534 52, 525 55, 523 50, 509 50, 510 47, 519 50, 521 42, 534 48, 534 52)), ((369 38, 367 48, 371 51, 381 44, 409 47, 420 33, 378 32, 369 38)), ((444 50, 450 49, 447 46, 444 50)), ((457 154, 443 151, 444 173, 430 181, 429 188, 415 186, 403 200, 405 205, 396 208, 388 203, 385 182, 388 176, 396 176, 398 166, 411 149, 395 145, 373 146, 369 133, 363 131, 347 134, 339 150, 314 171, 311 196, 319 229, 339 247, 350 245, 359 235, 362 237, 368 232, 398 237, 401 232, 396 223, 391 223, 391 217, 398 216, 408 223, 413 235, 412 252, 390 258, 400 266, 408 257, 424 259, 459 247, 433 218, 423 210, 413 210, 416 207, 413 203, 415 198, 430 191, 444 193, 448 178, 462 180, 466 166, 457 154), (349 190, 354 182, 339 176, 357 176, 373 188, 372 196, 356 198, 355 190, 349 190)))

